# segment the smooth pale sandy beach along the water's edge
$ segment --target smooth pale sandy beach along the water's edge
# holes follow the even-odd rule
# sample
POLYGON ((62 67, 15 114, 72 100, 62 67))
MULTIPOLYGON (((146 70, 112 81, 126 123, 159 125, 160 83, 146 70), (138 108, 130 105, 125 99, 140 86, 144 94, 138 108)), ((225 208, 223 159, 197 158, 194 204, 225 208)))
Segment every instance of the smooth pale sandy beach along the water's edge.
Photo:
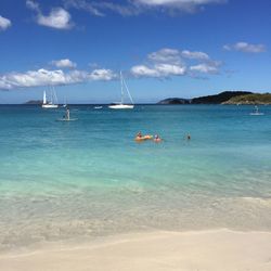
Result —
POLYGON ((3 271, 270 271, 271 233, 153 232, 0 256, 3 271))

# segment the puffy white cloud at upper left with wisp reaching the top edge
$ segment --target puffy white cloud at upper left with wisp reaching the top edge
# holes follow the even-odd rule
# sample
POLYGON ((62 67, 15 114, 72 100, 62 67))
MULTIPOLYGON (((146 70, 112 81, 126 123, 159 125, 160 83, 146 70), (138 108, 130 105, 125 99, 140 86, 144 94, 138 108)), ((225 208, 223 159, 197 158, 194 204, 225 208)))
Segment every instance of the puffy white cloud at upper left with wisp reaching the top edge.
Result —
POLYGON ((39 25, 56 29, 69 29, 74 26, 70 14, 63 8, 54 8, 49 15, 43 15, 39 4, 33 0, 27 0, 26 7, 37 13, 36 22, 39 25))

